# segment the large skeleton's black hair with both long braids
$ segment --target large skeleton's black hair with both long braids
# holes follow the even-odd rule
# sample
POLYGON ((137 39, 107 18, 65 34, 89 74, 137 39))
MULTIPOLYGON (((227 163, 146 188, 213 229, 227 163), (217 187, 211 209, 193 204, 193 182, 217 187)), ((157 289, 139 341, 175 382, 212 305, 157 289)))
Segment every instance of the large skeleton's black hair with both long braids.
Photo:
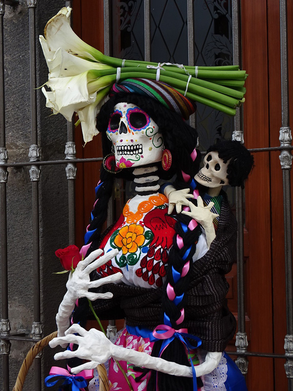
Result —
MULTIPOLYGON (((198 172, 201 160, 200 153, 194 153, 194 146, 197 144, 197 132, 184 122, 177 113, 168 110, 151 98, 143 97, 138 94, 120 93, 113 96, 105 103, 97 117, 97 129, 102 132, 104 156, 109 154, 112 150, 112 143, 106 136, 109 117, 114 111, 114 106, 120 102, 137 105, 140 109, 145 110, 158 125, 159 131, 162 133, 164 139, 164 146, 172 154, 170 170, 165 172, 159 167, 159 177, 169 179, 176 174, 176 187, 178 189, 188 187, 193 175, 198 172), (191 155, 192 152, 193 155, 191 155)), ((124 176, 124 174, 127 174, 129 176, 129 171, 131 172, 131 169, 128 169, 128 172, 127 169, 123 169, 120 175, 124 176)), ((106 218, 107 203, 112 191, 112 185, 109 184, 110 182, 112 183, 111 175, 112 174, 106 173, 105 170, 101 170, 101 185, 97 190, 96 202, 92 211, 91 222, 88 226, 88 231, 93 231, 92 235, 88 237, 88 243, 92 243, 86 255, 97 249, 100 242, 101 227, 106 218)), ((192 264, 192 257, 196 250, 196 242, 201 234, 201 229, 197 226, 193 230, 187 228, 187 231, 185 231, 182 224, 188 227, 191 220, 190 217, 179 214, 175 218, 177 223, 175 224, 173 246, 168 257, 167 279, 165 282, 166 293, 162 298, 162 323, 164 323, 164 320, 166 322, 167 317, 169 325, 175 329, 179 329, 182 325, 184 325, 184 316, 182 317, 182 311, 184 310, 184 306, 187 301, 187 295, 185 292, 188 290, 189 275, 191 271, 191 267, 188 271, 186 271, 187 268, 185 267, 184 269, 184 266, 188 261, 190 261, 190 266, 192 264), (181 246, 177 243, 178 236, 182 238, 181 246), (187 257, 186 254, 188 254, 187 257), (172 270, 175 270, 180 274, 178 281, 174 280, 172 270), (185 270, 185 272, 183 272, 183 270, 185 270), (170 300, 167 295, 168 284, 172 286, 176 297, 183 295, 182 300, 177 304, 170 300)), ((79 311, 79 314, 81 314, 81 311, 79 311)), ((76 316, 74 316, 74 322, 77 321, 79 320, 76 316)), ((161 341, 154 343, 151 353, 152 356, 159 356, 161 345, 161 341)), ((190 366, 185 347, 176 338, 164 350, 161 357, 168 361, 190 366)), ((176 377, 162 372, 156 373, 156 371, 152 371, 151 379, 147 387, 148 391, 155 390, 156 375, 158 376, 160 390, 192 390, 192 378, 176 377)))

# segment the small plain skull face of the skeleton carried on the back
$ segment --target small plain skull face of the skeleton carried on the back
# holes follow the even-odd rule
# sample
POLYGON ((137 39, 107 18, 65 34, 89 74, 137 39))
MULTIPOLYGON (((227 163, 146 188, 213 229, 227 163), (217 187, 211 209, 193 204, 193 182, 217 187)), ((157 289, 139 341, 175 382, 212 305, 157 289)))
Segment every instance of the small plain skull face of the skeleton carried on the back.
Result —
POLYGON ((204 167, 195 175, 194 179, 207 187, 219 187, 228 185, 227 168, 228 162, 219 158, 217 151, 212 151, 204 157, 204 167))

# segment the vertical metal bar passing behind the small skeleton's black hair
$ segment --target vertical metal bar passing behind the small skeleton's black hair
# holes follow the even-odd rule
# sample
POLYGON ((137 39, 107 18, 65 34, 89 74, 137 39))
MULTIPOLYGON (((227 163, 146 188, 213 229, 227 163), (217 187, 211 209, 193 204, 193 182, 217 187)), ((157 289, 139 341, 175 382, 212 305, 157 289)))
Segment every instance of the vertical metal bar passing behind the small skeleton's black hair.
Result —
MULTIPOLYGON (((233 63, 241 65, 241 1, 232 1, 232 36, 233 36, 233 63)), ((238 110, 234 118, 234 130, 232 139, 244 142, 243 138, 243 113, 238 110)), ((246 352, 248 347, 247 334, 245 331, 245 295, 244 295, 244 215, 243 215, 243 191, 240 187, 235 190, 236 218, 238 222, 237 232, 237 311, 238 331, 236 334, 236 351, 246 352)), ((238 357, 236 364, 243 374, 248 371, 248 360, 238 357)))

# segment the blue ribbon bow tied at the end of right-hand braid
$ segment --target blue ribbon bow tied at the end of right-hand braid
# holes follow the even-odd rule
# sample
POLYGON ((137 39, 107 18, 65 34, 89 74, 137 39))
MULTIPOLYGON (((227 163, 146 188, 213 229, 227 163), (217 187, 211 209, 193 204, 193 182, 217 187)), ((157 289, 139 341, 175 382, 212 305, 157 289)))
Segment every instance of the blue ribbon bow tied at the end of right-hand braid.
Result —
MULTIPOLYGON (((168 330, 158 330, 156 332, 158 334, 165 334, 167 331, 168 330)), ((174 330, 174 331, 175 332, 171 337, 163 340, 163 343, 162 343, 162 346, 160 349, 160 353, 159 353, 159 357, 161 357, 163 350, 165 348, 167 348, 167 346, 170 344, 170 342, 172 342, 175 338, 178 338, 186 346, 186 348, 188 350, 188 354, 190 354, 189 349, 195 349, 195 348, 199 348, 201 346, 202 341, 199 337, 196 337, 195 335, 188 334, 188 333, 178 332, 176 330, 174 330), (196 346, 191 345, 190 342, 188 341, 188 338, 194 340, 196 342, 196 346)), ((151 342, 160 341, 160 338, 156 338, 152 333, 150 333, 149 340, 151 342)), ((190 358, 190 364, 191 364, 191 369, 192 369, 193 391, 197 391, 196 372, 195 372, 194 365, 192 363, 191 358, 190 358)))

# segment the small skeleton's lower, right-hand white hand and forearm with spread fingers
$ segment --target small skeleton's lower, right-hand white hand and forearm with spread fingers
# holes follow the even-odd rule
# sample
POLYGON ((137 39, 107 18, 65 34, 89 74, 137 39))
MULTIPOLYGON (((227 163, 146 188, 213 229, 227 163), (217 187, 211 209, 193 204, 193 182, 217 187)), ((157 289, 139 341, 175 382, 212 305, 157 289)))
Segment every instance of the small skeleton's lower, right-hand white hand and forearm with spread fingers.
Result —
POLYGON ((219 216, 216 213, 212 213, 210 211, 210 209, 214 206, 214 203, 209 202, 209 205, 204 206, 204 201, 199 195, 197 197, 197 206, 192 204, 192 202, 188 202, 188 206, 190 208, 190 212, 182 211, 181 213, 194 218, 194 220, 196 220, 203 226, 206 232, 207 244, 208 247, 210 247, 210 243, 216 237, 215 229, 213 226, 213 219, 219 216))

